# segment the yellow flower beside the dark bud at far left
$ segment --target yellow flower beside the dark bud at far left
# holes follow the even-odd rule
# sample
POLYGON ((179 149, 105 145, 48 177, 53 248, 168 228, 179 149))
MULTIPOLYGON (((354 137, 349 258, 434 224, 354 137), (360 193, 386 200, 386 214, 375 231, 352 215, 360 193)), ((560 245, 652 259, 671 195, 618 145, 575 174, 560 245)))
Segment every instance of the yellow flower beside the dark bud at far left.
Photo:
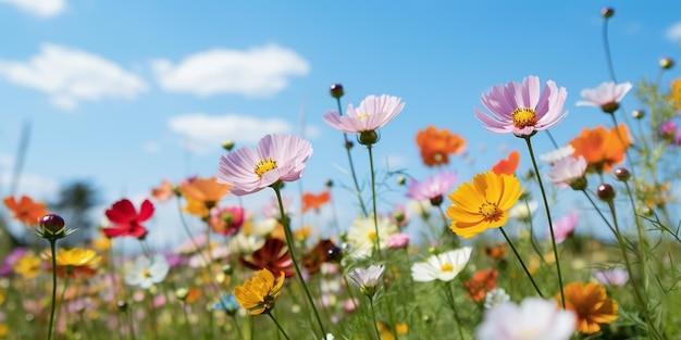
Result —
MULTIPOLYGON (((50 253, 44 253, 44 257, 48 263, 52 264, 50 253)), ((92 277, 97 274, 97 265, 101 261, 94 250, 74 248, 70 250, 60 249, 57 253, 57 275, 60 277, 69 276, 92 277)))

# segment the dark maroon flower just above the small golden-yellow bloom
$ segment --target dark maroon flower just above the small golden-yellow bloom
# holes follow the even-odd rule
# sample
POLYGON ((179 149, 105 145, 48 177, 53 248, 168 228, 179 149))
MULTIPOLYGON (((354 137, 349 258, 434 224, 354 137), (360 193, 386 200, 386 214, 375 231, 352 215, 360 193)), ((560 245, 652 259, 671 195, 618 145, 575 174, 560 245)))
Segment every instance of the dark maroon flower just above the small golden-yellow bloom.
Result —
POLYGON ((296 274, 286 243, 275 238, 268 238, 264 245, 252 254, 239 257, 239 263, 253 270, 267 268, 272 273, 284 272, 286 277, 296 274))

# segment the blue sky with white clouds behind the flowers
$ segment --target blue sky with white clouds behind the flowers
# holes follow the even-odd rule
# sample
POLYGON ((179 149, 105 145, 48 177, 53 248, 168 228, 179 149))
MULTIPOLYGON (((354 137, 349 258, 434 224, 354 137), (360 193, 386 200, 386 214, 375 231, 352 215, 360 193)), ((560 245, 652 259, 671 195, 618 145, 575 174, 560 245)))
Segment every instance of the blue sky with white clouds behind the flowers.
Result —
MULTIPOLYGON (((663 56, 681 60, 676 1, 196 3, 0 0, 2 196, 27 123, 16 193, 46 201, 74 179, 90 180, 109 204, 141 199, 164 178, 214 175, 225 139, 252 146, 269 133, 301 134, 301 125, 314 148, 304 188, 322 190, 326 179, 349 185, 342 136, 322 121, 336 108, 333 83, 346 89, 344 105, 381 93, 406 102, 381 130, 383 171, 389 163, 417 178, 434 174, 413 138, 435 125, 468 140, 468 156, 449 168, 469 180, 508 150, 525 154, 522 140, 487 133, 473 116, 492 86, 537 75, 566 87, 570 115, 552 131, 559 143, 582 127, 610 124, 574 105, 581 89, 609 80, 602 8, 616 10, 608 29, 619 81, 656 77, 663 56)), ((672 70, 663 81, 678 76, 672 70)), ((632 95, 624 108, 637 108, 632 95)), ((546 136, 534 141, 540 153, 552 149, 546 136)), ((367 180, 366 151, 356 148, 354 156, 367 180)), ((529 166, 524 156, 521 168, 529 166)), ((387 198, 382 207, 403 200, 387 198)), ((352 203, 345 192, 336 197, 348 218, 352 203)))

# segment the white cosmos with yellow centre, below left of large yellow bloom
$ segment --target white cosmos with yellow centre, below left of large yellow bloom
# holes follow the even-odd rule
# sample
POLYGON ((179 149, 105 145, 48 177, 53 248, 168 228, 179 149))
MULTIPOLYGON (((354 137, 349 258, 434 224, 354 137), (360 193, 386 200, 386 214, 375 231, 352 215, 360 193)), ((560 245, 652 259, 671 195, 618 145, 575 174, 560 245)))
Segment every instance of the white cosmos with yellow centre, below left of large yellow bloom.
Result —
POLYGON ((411 265, 411 277, 419 282, 450 281, 466 267, 472 250, 470 247, 463 247, 432 255, 425 262, 417 262, 411 265))

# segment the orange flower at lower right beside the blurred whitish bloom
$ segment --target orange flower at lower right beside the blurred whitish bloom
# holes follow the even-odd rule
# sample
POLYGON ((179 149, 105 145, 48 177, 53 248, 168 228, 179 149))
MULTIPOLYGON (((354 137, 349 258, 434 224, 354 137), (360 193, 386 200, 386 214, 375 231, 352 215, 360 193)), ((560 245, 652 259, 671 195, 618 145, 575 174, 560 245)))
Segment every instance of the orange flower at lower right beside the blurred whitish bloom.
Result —
MULTIPOLYGON (((583 333, 600 330, 600 324, 617 319, 617 302, 606 294, 605 287, 589 282, 572 282, 564 287, 566 308, 577 314, 577 329, 583 333)), ((560 293, 556 294, 560 301, 560 293)), ((559 302, 560 303, 560 302, 559 302)))

